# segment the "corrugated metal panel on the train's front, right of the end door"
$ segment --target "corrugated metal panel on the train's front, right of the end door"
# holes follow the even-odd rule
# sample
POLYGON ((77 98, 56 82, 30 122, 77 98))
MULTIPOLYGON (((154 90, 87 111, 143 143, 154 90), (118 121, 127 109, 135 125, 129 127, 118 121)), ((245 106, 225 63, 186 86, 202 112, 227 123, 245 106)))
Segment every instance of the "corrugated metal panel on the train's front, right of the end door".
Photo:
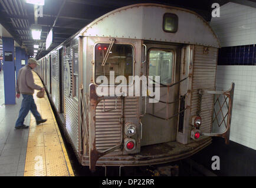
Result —
MULTIPOLYGON (((198 89, 215 90, 217 58, 217 48, 208 48, 208 53, 204 53, 204 46, 195 46, 191 97, 191 116, 196 115, 196 112, 198 110, 198 89)), ((211 132, 213 102, 214 95, 204 94, 202 96, 202 125, 200 127, 201 132, 211 132)))

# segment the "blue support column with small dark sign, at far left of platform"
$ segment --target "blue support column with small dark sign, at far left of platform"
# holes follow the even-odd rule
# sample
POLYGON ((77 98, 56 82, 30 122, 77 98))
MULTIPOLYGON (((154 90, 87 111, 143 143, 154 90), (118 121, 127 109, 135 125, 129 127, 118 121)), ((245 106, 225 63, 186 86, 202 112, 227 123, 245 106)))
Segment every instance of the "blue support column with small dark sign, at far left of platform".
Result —
POLYGON ((15 105, 14 39, 3 37, 5 105, 15 105))

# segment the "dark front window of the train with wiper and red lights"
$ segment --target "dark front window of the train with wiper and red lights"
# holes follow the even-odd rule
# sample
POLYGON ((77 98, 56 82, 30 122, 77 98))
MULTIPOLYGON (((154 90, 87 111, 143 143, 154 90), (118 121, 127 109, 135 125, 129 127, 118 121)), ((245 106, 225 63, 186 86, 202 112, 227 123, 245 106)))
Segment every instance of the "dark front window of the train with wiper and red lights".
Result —
MULTIPOLYGON (((95 46, 95 82, 98 76, 106 76, 110 80, 110 71, 114 71, 114 78, 120 75, 125 76, 130 85, 132 80, 129 80, 129 76, 133 75, 133 46, 114 44, 105 65, 102 66, 108 48, 108 43, 98 43, 95 46)), ((101 82, 96 84, 100 85, 101 82)), ((115 83, 115 85, 119 84, 126 85, 124 82, 115 83)))

